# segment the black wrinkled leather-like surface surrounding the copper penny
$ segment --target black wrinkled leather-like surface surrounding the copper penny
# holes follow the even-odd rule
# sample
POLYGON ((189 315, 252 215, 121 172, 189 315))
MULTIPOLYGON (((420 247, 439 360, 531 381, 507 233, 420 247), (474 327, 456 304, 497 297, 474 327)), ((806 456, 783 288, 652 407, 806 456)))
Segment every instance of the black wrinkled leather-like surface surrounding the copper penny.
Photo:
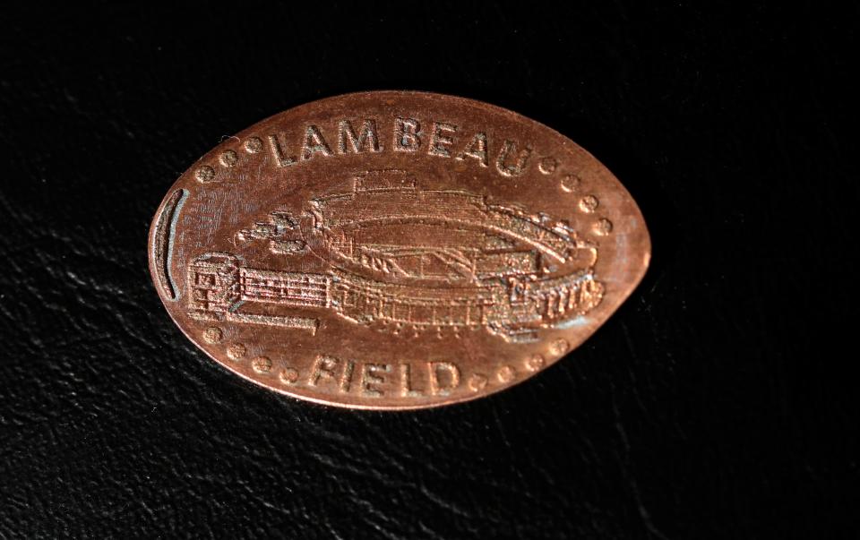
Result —
POLYGON ((857 13, 640 4, 4 8, 0 536, 851 537, 857 13), (580 142, 641 203, 641 287, 457 407, 320 407, 204 357, 150 284, 162 196, 373 89, 580 142))

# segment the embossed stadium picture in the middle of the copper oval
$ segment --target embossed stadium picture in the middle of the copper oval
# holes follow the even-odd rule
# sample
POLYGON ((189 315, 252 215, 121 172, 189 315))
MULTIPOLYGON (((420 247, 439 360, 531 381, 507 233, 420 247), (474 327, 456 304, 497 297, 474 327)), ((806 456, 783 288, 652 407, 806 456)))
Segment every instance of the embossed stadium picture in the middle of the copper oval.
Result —
POLYGON ((288 270, 201 253, 187 268, 189 315, 315 332, 324 309, 396 335, 486 330, 529 342, 575 324, 604 292, 598 246, 568 223, 422 189, 401 170, 362 173, 351 191, 273 209, 236 232, 236 251, 258 243, 288 270), (308 258, 321 270, 305 271, 308 258))

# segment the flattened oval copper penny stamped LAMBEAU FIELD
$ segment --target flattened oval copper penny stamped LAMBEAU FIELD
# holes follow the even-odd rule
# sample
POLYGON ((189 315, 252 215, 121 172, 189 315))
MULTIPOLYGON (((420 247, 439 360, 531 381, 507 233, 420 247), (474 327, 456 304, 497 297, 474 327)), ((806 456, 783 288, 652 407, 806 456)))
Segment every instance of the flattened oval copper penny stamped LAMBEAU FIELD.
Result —
POLYGON ((221 142, 150 227, 176 325, 233 373, 342 407, 518 384, 640 282, 630 193, 562 134, 452 96, 314 101, 221 142))

